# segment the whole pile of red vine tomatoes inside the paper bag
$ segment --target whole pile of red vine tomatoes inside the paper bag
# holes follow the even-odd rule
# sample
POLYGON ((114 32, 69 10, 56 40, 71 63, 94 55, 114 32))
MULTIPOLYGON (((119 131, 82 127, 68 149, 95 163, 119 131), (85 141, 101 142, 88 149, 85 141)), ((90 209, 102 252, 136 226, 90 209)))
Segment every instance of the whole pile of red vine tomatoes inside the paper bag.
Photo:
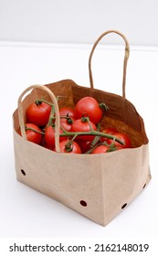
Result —
MULTIPOLYGON (((100 130, 100 123, 108 107, 94 98, 81 98, 74 109, 59 109, 60 152, 68 154, 100 154, 132 147, 129 136, 108 127, 100 130)), ((26 109, 26 138, 35 144, 56 151, 53 104, 35 101, 26 109)))

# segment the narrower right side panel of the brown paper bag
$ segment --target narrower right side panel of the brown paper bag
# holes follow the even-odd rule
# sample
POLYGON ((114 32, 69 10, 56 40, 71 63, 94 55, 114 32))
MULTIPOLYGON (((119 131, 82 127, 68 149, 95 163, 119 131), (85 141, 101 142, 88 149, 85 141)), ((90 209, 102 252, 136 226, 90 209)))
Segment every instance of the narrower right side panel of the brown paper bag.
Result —
POLYGON ((102 155, 102 173, 104 212, 108 224, 149 183, 148 144, 109 153, 107 157, 102 155))

